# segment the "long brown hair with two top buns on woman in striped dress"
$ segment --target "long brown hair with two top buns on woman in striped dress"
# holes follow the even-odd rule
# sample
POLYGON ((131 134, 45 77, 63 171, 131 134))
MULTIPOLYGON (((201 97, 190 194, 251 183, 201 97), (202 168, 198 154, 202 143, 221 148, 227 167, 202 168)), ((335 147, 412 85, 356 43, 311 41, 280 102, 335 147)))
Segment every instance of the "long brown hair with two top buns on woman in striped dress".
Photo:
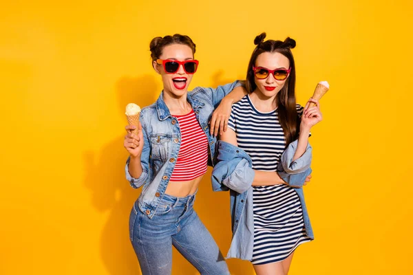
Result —
POLYGON ((297 129, 299 129, 300 122, 295 105, 295 63, 293 53, 291 52, 291 49, 295 47, 295 40, 287 37, 284 41, 267 40, 264 42, 265 37, 266 33, 263 32, 254 39, 254 44, 257 45, 257 47, 255 47, 248 63, 248 69, 246 71, 246 90, 248 93, 252 93, 257 89, 253 67, 260 54, 264 52, 279 52, 288 58, 291 68, 290 74, 284 87, 282 87, 275 97, 278 120, 284 130, 286 144, 288 145, 297 138, 297 129))

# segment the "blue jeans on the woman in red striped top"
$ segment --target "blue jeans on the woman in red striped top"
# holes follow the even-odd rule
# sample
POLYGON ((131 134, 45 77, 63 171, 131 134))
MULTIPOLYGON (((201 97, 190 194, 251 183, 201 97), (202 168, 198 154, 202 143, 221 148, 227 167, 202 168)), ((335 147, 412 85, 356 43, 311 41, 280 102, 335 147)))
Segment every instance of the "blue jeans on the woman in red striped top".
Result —
POLYGON ((152 219, 134 203, 129 234, 143 275, 171 274, 172 245, 200 274, 229 274, 218 245, 193 210, 194 200, 195 194, 165 194, 152 219))

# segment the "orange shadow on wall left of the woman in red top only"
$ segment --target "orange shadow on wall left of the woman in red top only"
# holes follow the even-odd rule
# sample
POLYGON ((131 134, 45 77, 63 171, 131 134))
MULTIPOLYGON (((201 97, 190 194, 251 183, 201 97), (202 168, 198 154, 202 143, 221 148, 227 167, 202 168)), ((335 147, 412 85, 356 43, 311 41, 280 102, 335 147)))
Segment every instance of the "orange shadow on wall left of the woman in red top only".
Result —
MULTIPOLYGON (((122 77, 116 83, 119 111, 136 102, 141 107, 152 104, 158 94, 153 76, 122 77)), ((85 186, 92 191, 92 204, 100 212, 108 212, 107 223, 100 236, 100 256, 108 274, 140 274, 138 259, 129 241, 129 214, 141 189, 131 188, 125 179, 125 162, 128 156, 123 147, 126 134, 119 125, 119 136, 108 142, 99 152, 85 152, 87 175, 85 186)))

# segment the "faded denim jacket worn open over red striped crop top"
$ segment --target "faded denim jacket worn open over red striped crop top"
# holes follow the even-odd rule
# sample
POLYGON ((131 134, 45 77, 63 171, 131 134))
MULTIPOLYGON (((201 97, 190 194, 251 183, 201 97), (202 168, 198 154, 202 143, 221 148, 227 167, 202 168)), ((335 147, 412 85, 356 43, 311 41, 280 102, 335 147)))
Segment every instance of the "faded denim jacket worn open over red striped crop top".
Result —
MULTIPOLYGON (((215 155, 216 137, 209 133, 209 119, 222 98, 240 85, 240 81, 235 81, 218 86, 216 89, 197 87, 187 94, 187 101, 191 104, 196 119, 208 137, 210 165, 215 155)), ((131 177, 129 174, 130 157, 126 162, 125 173, 133 188, 143 186, 138 206, 147 217, 152 218, 165 194, 176 159, 178 159, 181 133, 178 120, 171 116, 163 100, 163 91, 155 103, 142 108, 139 121, 142 125, 144 141, 140 157, 142 174, 137 179, 131 177)))

